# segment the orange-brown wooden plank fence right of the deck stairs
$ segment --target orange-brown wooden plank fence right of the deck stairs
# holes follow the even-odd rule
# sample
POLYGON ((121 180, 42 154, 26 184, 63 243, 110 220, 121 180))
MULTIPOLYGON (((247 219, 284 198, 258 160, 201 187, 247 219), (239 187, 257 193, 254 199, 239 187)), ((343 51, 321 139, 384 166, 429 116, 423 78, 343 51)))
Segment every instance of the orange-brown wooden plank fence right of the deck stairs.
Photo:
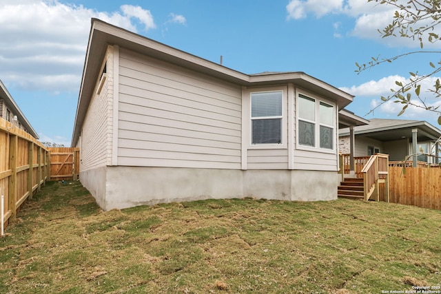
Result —
POLYGON ((441 169, 389 167, 390 202, 441 209, 441 169))

